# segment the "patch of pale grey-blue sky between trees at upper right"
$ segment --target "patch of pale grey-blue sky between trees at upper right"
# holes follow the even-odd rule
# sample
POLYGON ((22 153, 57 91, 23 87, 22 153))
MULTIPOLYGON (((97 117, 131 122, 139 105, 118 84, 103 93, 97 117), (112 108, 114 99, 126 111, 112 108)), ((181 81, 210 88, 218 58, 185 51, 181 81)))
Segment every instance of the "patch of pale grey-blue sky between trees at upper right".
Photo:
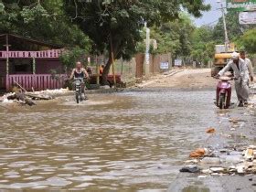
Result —
MULTIPOLYGON (((205 0, 205 2, 211 5, 211 10, 204 13, 202 17, 195 19, 197 27, 212 23, 218 20, 218 18, 221 16, 220 10, 217 10, 220 7, 220 5, 217 3, 217 0, 205 0)), ((224 3, 225 2, 223 0, 223 5, 225 6, 224 3)))

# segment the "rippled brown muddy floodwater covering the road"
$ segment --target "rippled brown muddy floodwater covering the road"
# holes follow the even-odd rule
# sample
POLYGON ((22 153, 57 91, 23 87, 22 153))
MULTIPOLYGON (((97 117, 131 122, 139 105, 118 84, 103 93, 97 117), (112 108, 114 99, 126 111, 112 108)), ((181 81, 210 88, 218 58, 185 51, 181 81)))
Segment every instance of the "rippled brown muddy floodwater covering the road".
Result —
POLYGON ((0 189, 165 191, 218 123, 214 95, 151 89, 0 107, 0 189))

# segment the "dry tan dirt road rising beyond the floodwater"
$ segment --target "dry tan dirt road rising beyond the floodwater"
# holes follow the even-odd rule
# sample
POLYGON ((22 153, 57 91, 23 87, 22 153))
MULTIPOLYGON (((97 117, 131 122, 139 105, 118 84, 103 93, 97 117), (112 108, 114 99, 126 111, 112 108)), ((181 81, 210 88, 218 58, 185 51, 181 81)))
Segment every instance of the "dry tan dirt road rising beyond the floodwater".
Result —
POLYGON ((217 80, 210 77, 210 69, 179 69, 174 75, 155 77, 144 84, 147 88, 212 89, 217 80))

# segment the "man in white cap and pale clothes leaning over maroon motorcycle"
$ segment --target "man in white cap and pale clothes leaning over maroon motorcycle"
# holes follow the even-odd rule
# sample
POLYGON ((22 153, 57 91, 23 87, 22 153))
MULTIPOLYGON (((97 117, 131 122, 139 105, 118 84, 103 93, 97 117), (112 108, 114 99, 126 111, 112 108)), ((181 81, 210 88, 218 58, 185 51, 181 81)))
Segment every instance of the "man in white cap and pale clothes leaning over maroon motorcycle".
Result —
POLYGON ((233 69, 234 78, 235 78, 235 88, 238 96, 238 100, 240 101, 239 107, 244 106, 244 102, 247 102, 249 99, 249 72, 246 66, 246 63, 243 59, 240 59, 240 54, 237 52, 233 52, 231 54, 232 60, 225 66, 225 68, 221 69, 216 76, 219 78, 223 76, 225 72, 229 71, 229 69, 233 69))

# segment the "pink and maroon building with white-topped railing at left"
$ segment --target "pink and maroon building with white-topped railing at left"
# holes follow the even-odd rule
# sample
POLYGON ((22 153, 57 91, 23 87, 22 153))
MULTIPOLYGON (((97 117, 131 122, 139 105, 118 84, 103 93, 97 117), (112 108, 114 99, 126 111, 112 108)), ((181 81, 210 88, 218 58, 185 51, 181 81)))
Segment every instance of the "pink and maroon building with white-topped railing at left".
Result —
POLYGON ((63 78, 53 78, 54 69, 64 76, 61 47, 12 34, 0 35, 0 89, 10 91, 17 83, 27 91, 59 89, 63 78))

